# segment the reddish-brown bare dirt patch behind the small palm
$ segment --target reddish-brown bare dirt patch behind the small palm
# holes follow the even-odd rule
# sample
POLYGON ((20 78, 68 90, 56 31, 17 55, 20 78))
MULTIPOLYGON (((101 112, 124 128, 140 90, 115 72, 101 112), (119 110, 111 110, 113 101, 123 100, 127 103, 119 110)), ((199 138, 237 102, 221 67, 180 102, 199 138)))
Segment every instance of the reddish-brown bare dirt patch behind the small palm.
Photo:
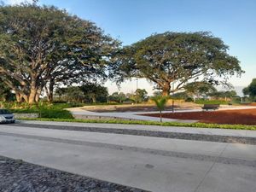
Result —
MULTIPOLYGON (((159 113, 143 114, 151 117, 159 117, 159 113)), ((168 119, 192 119, 201 123, 214 124, 241 124, 256 125, 256 108, 211 112, 186 112, 186 113, 163 113, 163 118, 168 119)))

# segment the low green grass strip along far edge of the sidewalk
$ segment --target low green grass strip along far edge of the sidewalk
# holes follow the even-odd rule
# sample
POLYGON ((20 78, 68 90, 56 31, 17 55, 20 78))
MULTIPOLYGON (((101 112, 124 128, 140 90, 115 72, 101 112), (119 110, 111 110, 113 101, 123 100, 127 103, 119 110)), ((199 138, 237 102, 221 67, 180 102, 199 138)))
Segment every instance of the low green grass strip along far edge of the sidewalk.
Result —
POLYGON ((58 122, 79 122, 79 123, 104 123, 104 124, 126 124, 126 125, 161 125, 161 126, 180 126, 194 128, 214 128, 214 129, 231 129, 231 130, 253 130, 256 131, 256 125, 218 125, 206 123, 179 123, 179 122, 154 122, 142 120, 122 120, 122 119, 45 119, 35 118, 22 120, 41 120, 41 121, 58 121, 58 122))

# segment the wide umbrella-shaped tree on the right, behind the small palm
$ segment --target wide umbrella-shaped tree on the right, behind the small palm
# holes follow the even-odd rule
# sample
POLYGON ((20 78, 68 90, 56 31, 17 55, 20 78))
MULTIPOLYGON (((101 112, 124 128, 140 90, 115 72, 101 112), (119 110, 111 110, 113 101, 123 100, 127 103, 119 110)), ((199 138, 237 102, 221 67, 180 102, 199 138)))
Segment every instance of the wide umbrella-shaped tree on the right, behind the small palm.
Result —
MULTIPOLYGON (((164 96, 183 89, 188 82, 228 84, 232 75, 242 73, 228 46, 209 32, 165 32, 126 46, 116 57, 119 80, 145 78, 164 96)), ((115 66, 115 67, 116 67, 115 66)))

